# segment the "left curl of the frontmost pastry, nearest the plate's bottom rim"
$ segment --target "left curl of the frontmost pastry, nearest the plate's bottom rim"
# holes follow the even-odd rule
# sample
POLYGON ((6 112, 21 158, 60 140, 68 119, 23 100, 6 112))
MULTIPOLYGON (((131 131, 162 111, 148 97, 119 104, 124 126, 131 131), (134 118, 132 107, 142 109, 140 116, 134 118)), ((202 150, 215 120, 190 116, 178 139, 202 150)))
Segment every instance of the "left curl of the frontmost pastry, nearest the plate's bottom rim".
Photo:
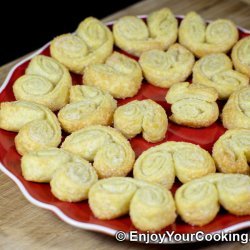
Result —
POLYGON ((98 219, 120 217, 128 214, 131 199, 137 189, 137 185, 129 177, 99 180, 90 189, 89 206, 98 219))

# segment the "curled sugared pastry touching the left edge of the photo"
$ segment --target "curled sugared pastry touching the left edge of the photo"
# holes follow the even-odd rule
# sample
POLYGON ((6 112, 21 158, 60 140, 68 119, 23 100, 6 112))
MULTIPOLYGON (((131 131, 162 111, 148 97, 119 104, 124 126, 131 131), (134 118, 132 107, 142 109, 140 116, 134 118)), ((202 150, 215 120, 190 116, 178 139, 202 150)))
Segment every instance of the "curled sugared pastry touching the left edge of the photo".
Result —
POLYGON ((47 107, 33 102, 2 102, 0 128, 18 132, 15 145, 21 155, 57 147, 61 142, 61 127, 56 115, 47 107))

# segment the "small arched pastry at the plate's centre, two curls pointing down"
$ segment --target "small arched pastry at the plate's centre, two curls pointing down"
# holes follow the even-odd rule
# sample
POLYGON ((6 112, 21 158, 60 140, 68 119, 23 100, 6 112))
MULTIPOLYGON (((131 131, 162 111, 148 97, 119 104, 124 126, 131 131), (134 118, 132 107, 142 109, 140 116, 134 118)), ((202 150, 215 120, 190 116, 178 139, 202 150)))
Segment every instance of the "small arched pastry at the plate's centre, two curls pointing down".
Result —
POLYGON ((146 141, 158 142, 165 137, 168 118, 165 110, 156 102, 150 99, 135 100, 116 109, 114 127, 127 138, 142 133, 146 141))

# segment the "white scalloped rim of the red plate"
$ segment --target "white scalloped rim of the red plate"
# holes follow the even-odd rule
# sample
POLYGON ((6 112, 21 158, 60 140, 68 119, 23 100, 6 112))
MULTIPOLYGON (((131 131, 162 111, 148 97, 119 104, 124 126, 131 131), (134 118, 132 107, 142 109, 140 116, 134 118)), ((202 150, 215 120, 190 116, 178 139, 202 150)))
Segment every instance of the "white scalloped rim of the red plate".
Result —
MULTIPOLYGON (((139 18, 146 18, 147 15, 139 15, 139 18)), ((176 15, 177 18, 183 18, 183 15, 176 15)), ((115 21, 111 21, 106 23, 106 25, 111 25, 114 24, 115 21)), ((211 22, 211 20, 208 20, 208 22, 211 22)), ((250 34, 250 30, 247 30, 245 28, 242 28, 240 26, 237 26, 239 30, 241 30, 244 33, 250 34)), ((12 77, 14 71, 23 63, 27 62, 28 60, 30 60, 31 58, 33 58, 34 56, 40 54, 44 49, 46 49, 49 46, 50 42, 46 43, 44 46, 42 46, 40 49, 38 49, 37 51, 35 51, 34 53, 32 53, 31 55, 25 57, 23 60, 21 60, 20 62, 18 62, 17 64, 15 64, 11 70, 9 71, 7 77, 5 78, 2 86, 0 87, 0 94, 2 93, 2 91, 5 89, 5 87, 7 86, 7 84, 9 83, 10 78, 12 77)), ((24 185, 22 184, 22 182, 13 174, 11 173, 1 162, 0 162, 0 170, 6 174, 11 180, 13 180, 16 185, 18 186, 18 188, 20 189, 20 191, 22 192, 22 194, 24 195, 24 197, 32 204, 50 210, 52 212, 54 212, 61 220, 63 220, 64 222, 68 223, 71 226, 77 227, 77 228, 81 228, 81 229, 85 229, 85 230, 90 230, 90 231, 94 231, 94 232, 101 232, 110 236, 115 236, 116 232, 118 230, 115 229, 111 229, 105 226, 101 226, 101 225, 96 225, 96 224, 92 224, 92 223, 85 223, 85 222, 79 222, 77 220, 74 220, 72 218, 70 218, 69 216, 67 216, 65 213, 62 212, 62 210, 60 210, 58 207, 48 204, 48 203, 44 203, 41 202, 37 199, 35 199, 24 187, 24 185)), ((230 227, 224 228, 223 230, 218 230, 218 231, 214 231, 212 232, 212 234, 216 234, 216 233, 221 233, 223 232, 236 232, 242 229, 246 229, 250 227, 250 221, 245 221, 245 222, 241 222, 238 223, 236 225, 232 225, 230 227)), ((127 239, 128 239, 128 235, 127 235, 127 239)), ((166 239, 167 240, 167 239, 166 239)), ((193 241, 195 242, 195 241, 193 241)), ((188 242, 175 242, 175 241, 171 241, 168 242, 166 241, 166 243, 188 243, 188 242)), ((189 242, 190 243, 190 242, 189 242)))

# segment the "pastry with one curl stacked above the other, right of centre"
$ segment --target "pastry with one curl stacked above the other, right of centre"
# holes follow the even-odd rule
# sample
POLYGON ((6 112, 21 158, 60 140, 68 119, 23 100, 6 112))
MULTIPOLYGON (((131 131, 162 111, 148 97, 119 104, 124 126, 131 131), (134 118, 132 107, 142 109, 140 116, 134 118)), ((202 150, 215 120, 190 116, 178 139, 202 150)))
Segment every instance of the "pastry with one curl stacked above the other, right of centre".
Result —
POLYGON ((188 127, 208 127, 219 117, 217 98, 214 88, 189 82, 176 83, 166 95, 166 101, 172 104, 169 119, 188 127))

